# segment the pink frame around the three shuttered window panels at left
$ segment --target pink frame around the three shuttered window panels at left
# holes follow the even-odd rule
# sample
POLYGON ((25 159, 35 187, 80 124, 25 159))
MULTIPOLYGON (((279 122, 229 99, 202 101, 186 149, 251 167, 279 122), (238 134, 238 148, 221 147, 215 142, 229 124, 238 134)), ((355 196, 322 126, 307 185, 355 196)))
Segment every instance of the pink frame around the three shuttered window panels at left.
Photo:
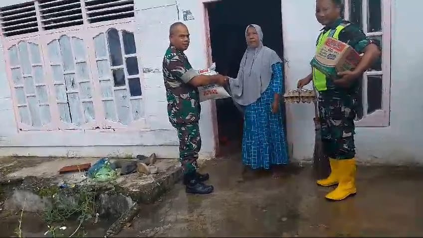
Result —
MULTIPOLYGON (((142 71, 142 62, 141 62, 141 54, 140 54, 140 47, 137 46, 137 42, 140 41, 140 35, 136 31, 136 20, 135 17, 131 18, 123 18, 113 21, 104 21, 104 22, 97 22, 97 23, 88 23, 86 18, 86 12, 84 7, 84 1, 81 0, 81 8, 82 8, 82 16, 84 24, 77 25, 77 26, 70 26, 70 27, 63 27, 59 29, 53 29, 53 30, 44 30, 41 26, 41 18, 38 11, 38 3, 35 2, 35 9, 36 9, 36 15, 37 15, 37 21, 38 21, 38 32, 33 33, 27 33, 27 34, 21 34, 16 36, 10 36, 10 37, 4 37, 1 34, 1 43, 3 46, 3 54, 5 55, 5 67, 6 67, 6 74, 7 74, 7 80, 10 87, 10 93, 12 98, 12 104, 13 104, 13 112, 16 119, 17 128, 19 130, 56 130, 56 129, 125 129, 125 130, 140 130, 143 128, 148 127, 146 122, 146 116, 141 115, 141 119, 131 121, 127 125, 123 125, 121 123, 112 122, 109 120, 106 120, 104 118, 104 109, 103 104, 101 101, 101 88, 98 81, 98 75, 96 74, 96 61, 95 61, 95 52, 94 52, 94 42, 93 37, 96 34, 99 34, 101 32, 106 32, 109 28, 116 28, 118 30, 127 30, 129 32, 134 33, 134 38, 136 42, 136 49, 137 49, 137 60, 138 60, 138 67, 139 67, 139 77, 140 77, 140 84, 141 84, 141 90, 142 92, 145 92, 145 82, 143 77, 143 71, 142 71), (54 39, 58 39, 62 35, 67 35, 69 37, 77 37, 84 41, 84 43, 87 44, 86 48, 86 62, 89 68, 89 77, 90 82, 92 86, 92 95, 93 95, 93 104, 95 108, 95 121, 91 123, 84 123, 81 126, 76 126, 73 124, 68 124, 60 121, 59 113, 58 113, 58 107, 56 102, 56 95, 54 90, 54 84, 52 79, 52 73, 51 73, 51 67, 46 62, 48 61, 48 51, 47 51, 47 44, 51 42, 54 39), (50 105, 50 115, 51 115, 51 121, 48 125, 45 125, 43 127, 33 127, 26 125, 21 121, 19 113, 17 111, 17 99, 15 95, 14 90, 14 83, 12 82, 11 77, 11 71, 10 71, 10 64, 9 64, 9 56, 8 51, 11 46, 17 45, 20 41, 26 41, 35 43, 39 46, 40 49, 40 55, 43 57, 42 59, 42 66, 43 70, 46 74, 46 80, 44 83, 47 86, 48 91, 48 104, 50 105), (94 63, 94 64, 93 64, 94 63), (96 77, 97 76, 97 77, 96 77)), ((137 11, 135 11, 135 14, 137 14, 137 11)), ((1 32, 0 32, 1 33, 1 32)), ((129 92, 128 92, 129 93, 129 92)), ((143 96, 141 96, 143 97, 143 96)), ((143 110, 145 109, 145 99, 142 100, 141 107, 143 110)))

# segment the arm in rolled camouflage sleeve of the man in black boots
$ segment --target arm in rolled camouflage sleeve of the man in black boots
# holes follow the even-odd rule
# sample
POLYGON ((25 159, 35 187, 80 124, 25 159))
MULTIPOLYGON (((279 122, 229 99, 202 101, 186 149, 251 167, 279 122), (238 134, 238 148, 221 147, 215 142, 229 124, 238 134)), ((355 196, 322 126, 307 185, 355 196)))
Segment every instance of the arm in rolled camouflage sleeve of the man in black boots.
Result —
POLYGON ((175 57, 169 62, 169 71, 174 77, 180 78, 182 82, 195 87, 223 84, 222 81, 226 78, 222 75, 199 75, 197 70, 188 69, 186 65, 189 64, 185 59, 175 57))

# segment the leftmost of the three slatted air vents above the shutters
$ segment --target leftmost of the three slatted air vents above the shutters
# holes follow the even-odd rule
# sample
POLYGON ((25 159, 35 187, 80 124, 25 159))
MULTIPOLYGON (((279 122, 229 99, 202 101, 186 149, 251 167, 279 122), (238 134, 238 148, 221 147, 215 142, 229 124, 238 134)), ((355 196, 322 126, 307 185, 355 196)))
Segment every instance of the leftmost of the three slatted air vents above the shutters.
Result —
POLYGON ((1 31, 4 36, 21 35, 38 31, 34 2, 0 8, 1 31))

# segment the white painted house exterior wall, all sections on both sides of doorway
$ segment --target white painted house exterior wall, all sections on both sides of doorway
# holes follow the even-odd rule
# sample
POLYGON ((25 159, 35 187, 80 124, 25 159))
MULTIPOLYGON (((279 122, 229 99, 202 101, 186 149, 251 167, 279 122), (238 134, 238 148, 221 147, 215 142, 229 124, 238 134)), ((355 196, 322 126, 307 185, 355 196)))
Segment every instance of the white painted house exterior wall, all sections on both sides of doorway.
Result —
MULTIPOLYGON (((19 0, 18 0, 19 1, 19 0)), ((23 0, 21 0, 23 2, 23 0)), ((135 0, 137 47, 141 50, 144 69, 146 126, 135 131, 55 130, 18 132, 10 98, 10 87, 4 70, 0 71, 0 155, 35 156, 105 156, 156 152, 164 157, 178 157, 178 141, 166 114, 165 89, 161 62, 168 46, 168 27, 184 21, 190 29, 191 46, 187 55, 194 68, 208 64, 208 41, 204 2, 207 0, 135 0), (158 70, 157 70, 158 69, 158 70)), ((17 3, 4 0, 1 6, 17 3)), ((358 127, 357 158, 372 163, 422 163, 423 118, 418 98, 423 86, 421 52, 423 46, 410 44, 410 39, 423 36, 419 14, 423 2, 413 4, 392 0, 390 126, 358 127), (411 37, 413 36, 413 37, 411 37)), ((321 26, 314 16, 315 0, 284 0, 282 25, 285 58, 285 87, 295 89, 297 80, 310 72, 309 60, 321 26), (301 14, 299 14, 301 12, 301 14)), ((5 68, 0 54, 0 68, 5 68)), ((214 156, 216 121, 212 102, 202 103, 200 121, 203 139, 202 156, 214 156)), ((312 105, 287 105, 287 130, 290 155, 296 160, 309 160, 314 146, 314 109, 312 105)))

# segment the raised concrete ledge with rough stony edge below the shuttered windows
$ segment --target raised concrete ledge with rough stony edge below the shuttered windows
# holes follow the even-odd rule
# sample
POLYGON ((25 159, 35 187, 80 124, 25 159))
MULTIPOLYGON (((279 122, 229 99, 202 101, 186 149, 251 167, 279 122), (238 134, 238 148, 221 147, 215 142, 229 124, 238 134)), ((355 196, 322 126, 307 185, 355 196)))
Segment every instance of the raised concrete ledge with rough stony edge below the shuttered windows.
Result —
MULTIPOLYGON (((96 191, 100 201, 100 213, 117 215, 106 231, 106 236, 118 234, 126 224, 138 214, 139 204, 154 203, 157 198, 173 188, 182 175, 182 167, 177 159, 158 159, 155 165, 157 174, 145 175, 133 173, 120 176, 116 180, 95 183, 86 180, 85 172, 58 174, 58 170, 67 165, 94 163, 95 158, 40 158, 40 157, 3 157, 0 158, 0 207, 18 211, 26 204, 28 212, 42 212, 52 205, 51 197, 43 195, 45 191, 65 192, 69 199, 72 193, 83 185, 96 191), (59 188, 66 181, 68 188, 59 188), (107 200, 107 201, 106 201, 107 200), (119 203, 113 205, 110 203, 119 203), (122 204, 123 203, 123 204, 122 204), (107 211, 105 211, 107 210, 107 211)), ((108 216, 108 215, 107 215, 108 216)))

